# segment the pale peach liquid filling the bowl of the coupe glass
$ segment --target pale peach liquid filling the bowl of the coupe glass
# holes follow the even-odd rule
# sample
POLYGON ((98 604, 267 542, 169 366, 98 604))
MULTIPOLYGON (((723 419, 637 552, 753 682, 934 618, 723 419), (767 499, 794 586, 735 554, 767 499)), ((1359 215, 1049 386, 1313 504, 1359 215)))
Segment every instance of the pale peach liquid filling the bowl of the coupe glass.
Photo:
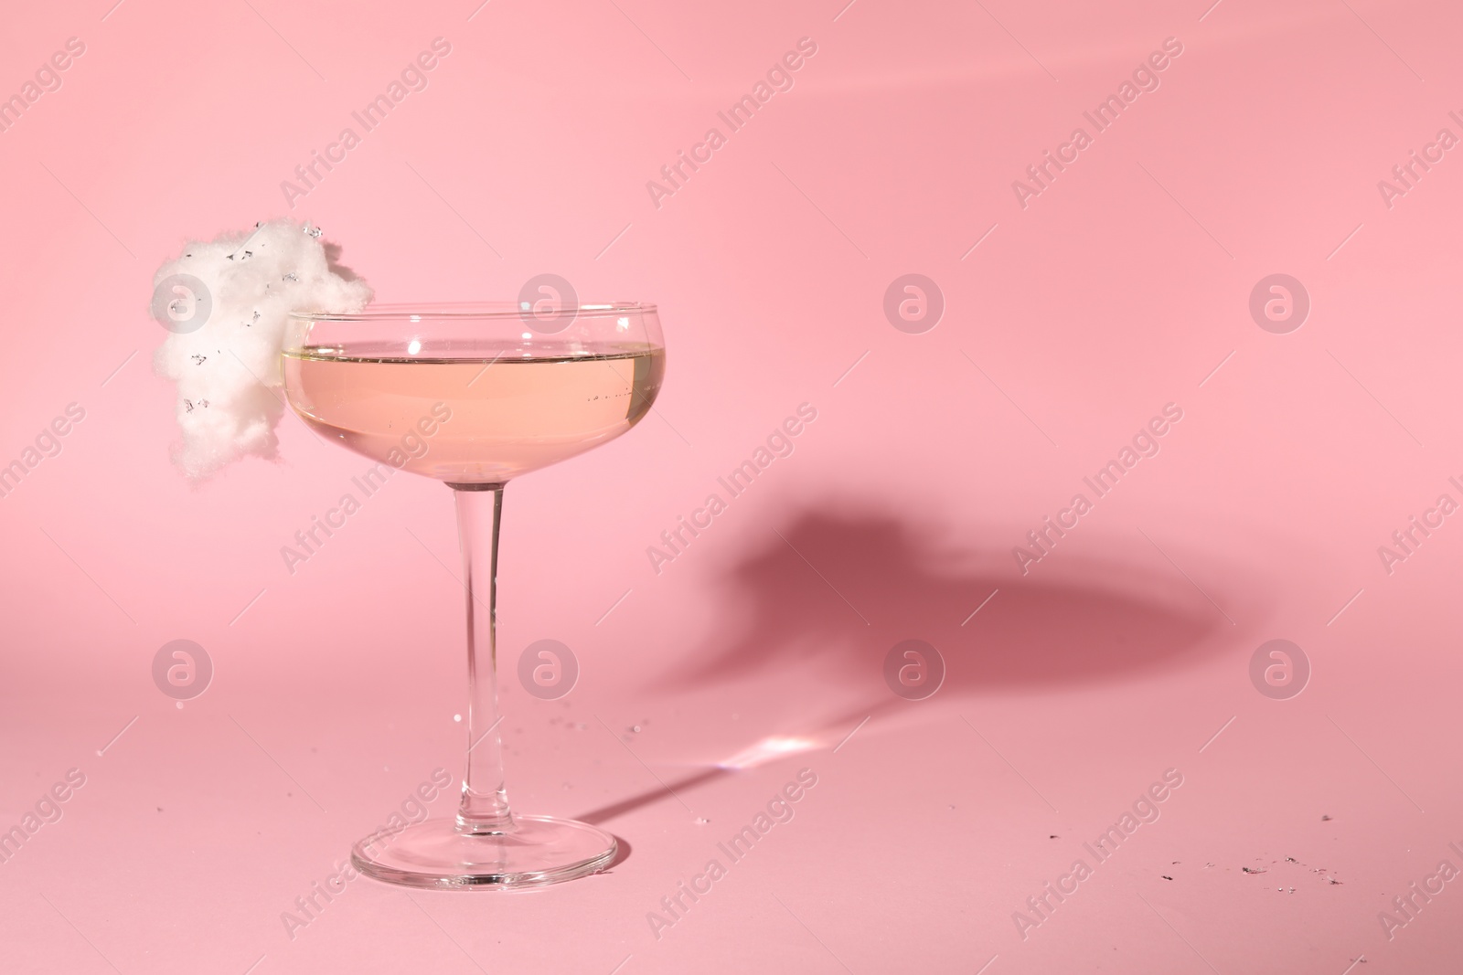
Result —
POLYGON ((433 358, 369 348, 285 352, 290 405, 322 436, 402 471, 494 484, 633 427, 660 390, 664 349, 433 358))

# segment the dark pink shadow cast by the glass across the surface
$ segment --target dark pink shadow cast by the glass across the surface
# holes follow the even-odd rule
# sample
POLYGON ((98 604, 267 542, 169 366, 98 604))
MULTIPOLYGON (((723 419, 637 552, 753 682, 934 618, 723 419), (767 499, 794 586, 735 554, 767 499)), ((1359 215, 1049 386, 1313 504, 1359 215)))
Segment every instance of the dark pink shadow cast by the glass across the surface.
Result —
MULTIPOLYGON (((891 649, 926 640, 944 658, 932 699, 1134 680, 1225 649, 1233 623, 1157 553, 1131 561, 1036 566, 961 547, 887 512, 805 510, 726 570, 712 636, 651 681, 676 696, 780 699, 781 725, 743 751, 664 786, 579 816, 603 823, 787 753, 831 747, 911 702, 885 683, 891 649), (730 766, 730 767, 729 767, 730 766)), ((1210 567, 1201 576, 1230 576, 1210 567)), ((1229 595, 1220 592, 1223 601, 1229 595)), ((1261 601, 1245 593, 1248 604, 1261 601)), ((948 716, 936 707, 923 710, 948 716)), ((748 731, 743 728, 743 732, 748 731)))

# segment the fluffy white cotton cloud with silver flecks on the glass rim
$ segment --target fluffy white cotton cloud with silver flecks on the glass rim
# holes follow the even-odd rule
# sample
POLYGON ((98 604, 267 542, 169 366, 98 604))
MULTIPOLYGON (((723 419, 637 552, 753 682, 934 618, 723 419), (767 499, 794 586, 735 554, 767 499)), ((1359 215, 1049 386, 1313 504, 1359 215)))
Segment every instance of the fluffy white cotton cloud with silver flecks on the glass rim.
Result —
POLYGON ((339 249, 319 234, 288 219, 260 224, 252 232, 190 243, 154 276, 154 314, 159 295, 162 306, 200 297, 202 307, 211 303, 193 330, 174 330, 181 316, 173 325, 158 316, 170 335, 154 368, 177 383, 183 443, 173 462, 189 478, 206 478, 246 455, 275 456, 275 425, 285 411, 279 352, 290 311, 360 311, 370 301, 370 287, 334 265, 339 249), (202 282, 206 295, 193 295, 190 279, 186 289, 176 288, 177 275, 202 282), (173 292, 183 297, 174 300, 173 292))

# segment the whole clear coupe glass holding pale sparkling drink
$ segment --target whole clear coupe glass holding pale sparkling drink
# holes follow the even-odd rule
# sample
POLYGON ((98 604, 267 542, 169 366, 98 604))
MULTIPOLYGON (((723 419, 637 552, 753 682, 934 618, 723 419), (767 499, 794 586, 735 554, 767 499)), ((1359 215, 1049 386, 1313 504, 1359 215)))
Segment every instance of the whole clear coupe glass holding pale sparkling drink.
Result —
POLYGON ((361 873, 415 887, 506 889, 603 870, 616 841, 587 823, 508 807, 493 643, 497 525, 509 479, 607 443, 660 390, 655 307, 373 306, 296 313, 290 405, 319 434, 445 481, 467 588, 467 770, 455 820, 356 843, 361 873))

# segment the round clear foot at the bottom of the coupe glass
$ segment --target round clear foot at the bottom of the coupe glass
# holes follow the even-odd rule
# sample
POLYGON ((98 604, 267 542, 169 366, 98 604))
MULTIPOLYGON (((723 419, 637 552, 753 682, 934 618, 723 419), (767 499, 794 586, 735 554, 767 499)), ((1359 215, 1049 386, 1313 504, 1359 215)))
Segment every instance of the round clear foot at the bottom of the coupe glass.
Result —
POLYGON ((511 832, 487 835, 459 833, 446 819, 367 836, 351 848, 351 862, 408 887, 516 890, 598 873, 617 849, 613 836, 572 819, 515 816, 511 832))

